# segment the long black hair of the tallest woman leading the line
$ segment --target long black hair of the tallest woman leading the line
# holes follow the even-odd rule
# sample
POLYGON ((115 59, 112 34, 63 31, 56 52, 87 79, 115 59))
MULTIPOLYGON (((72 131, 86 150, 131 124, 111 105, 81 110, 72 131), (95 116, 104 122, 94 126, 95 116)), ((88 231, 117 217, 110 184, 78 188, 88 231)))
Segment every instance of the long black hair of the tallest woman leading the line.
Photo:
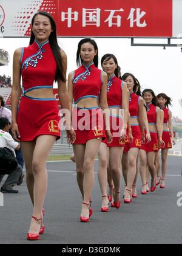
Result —
MULTIPOLYGON (((61 48, 58 45, 58 40, 57 40, 57 36, 56 36, 56 22, 49 13, 41 11, 41 12, 37 12, 37 13, 35 13, 35 15, 33 15, 32 27, 33 27, 35 17, 37 15, 44 15, 47 18, 49 18, 50 24, 51 24, 51 27, 52 27, 52 30, 53 30, 50 33, 50 36, 49 36, 49 43, 50 43, 50 47, 52 49, 53 55, 55 57, 56 65, 57 65, 56 74, 55 74, 55 81, 57 81, 58 78, 60 78, 62 81, 66 81, 66 71, 64 71, 64 69, 63 69, 62 58, 61 58, 61 54, 60 54, 61 48)), ((35 35, 34 35, 33 31, 31 30, 31 36, 30 36, 30 43, 29 44, 33 44, 34 40, 35 40, 35 35)))

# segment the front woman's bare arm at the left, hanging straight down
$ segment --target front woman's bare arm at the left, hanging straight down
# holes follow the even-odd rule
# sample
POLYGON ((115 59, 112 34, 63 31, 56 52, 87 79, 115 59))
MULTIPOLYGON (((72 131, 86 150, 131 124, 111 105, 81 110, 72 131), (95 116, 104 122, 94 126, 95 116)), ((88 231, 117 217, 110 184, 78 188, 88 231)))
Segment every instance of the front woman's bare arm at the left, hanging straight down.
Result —
POLYGON ((19 98, 21 93, 21 52, 22 49, 16 49, 13 55, 13 85, 12 85, 12 133, 13 138, 19 141, 18 137, 18 125, 16 123, 17 118, 17 109, 19 104, 19 98))

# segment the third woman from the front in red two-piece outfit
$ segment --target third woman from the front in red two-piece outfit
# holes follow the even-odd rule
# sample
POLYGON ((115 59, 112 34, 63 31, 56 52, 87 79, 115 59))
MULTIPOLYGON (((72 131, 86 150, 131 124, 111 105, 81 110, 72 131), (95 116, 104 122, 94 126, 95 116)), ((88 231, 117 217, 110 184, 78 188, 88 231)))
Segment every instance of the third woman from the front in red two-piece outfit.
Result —
MULTIPOLYGON (((113 54, 106 54, 101 59, 103 71, 107 73, 107 103, 110 109, 110 131, 112 133, 112 142, 104 145, 101 143, 99 147, 99 156, 103 154, 108 160, 108 182, 109 186, 114 187, 112 206, 116 209, 120 208, 120 184, 121 184, 121 157, 126 139, 126 128, 128 119, 128 100, 127 100, 127 86, 124 81, 118 78, 118 61, 113 54), (123 112, 121 112, 121 109, 123 112), (107 154, 108 149, 108 154, 107 154)), ((101 187, 101 192, 106 188, 106 175, 101 175, 98 168, 98 178, 101 187)), ((106 191, 106 190, 105 190, 106 191)), ((106 193, 103 195, 103 200, 106 199, 106 193)), ((109 197, 109 201, 112 198, 109 197)), ((102 206, 102 209, 108 210, 108 207, 102 206)))

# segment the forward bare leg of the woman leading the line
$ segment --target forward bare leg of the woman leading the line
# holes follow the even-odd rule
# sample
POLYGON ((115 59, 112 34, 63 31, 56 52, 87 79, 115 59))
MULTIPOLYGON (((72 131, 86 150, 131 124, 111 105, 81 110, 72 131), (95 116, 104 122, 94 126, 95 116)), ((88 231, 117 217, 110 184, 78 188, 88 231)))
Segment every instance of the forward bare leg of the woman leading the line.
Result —
MULTIPOLYGON (((33 216, 42 217, 42 207, 44 205, 45 194, 47 192, 47 170, 46 161, 50 150, 55 143, 56 136, 42 135, 36 139, 35 150, 33 152, 32 170, 34 176, 33 188, 33 216)), ((29 233, 38 234, 40 224, 32 218, 29 233)))

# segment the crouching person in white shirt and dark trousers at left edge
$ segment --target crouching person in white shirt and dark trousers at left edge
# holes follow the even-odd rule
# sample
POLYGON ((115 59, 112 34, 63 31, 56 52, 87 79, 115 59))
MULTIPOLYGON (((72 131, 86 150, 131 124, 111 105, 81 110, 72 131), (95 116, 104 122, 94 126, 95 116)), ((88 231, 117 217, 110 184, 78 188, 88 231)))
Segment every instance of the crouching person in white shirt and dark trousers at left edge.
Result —
MULTIPOLYGON (((0 117, 0 147, 8 147, 15 154, 15 150, 19 150, 19 143, 13 140, 13 137, 8 133, 10 130, 8 119, 5 117, 0 117)), ((18 190, 14 190, 13 186, 19 181, 20 176, 22 175, 22 167, 18 166, 13 170, 5 180, 4 184, 1 187, 2 193, 18 193, 18 190)), ((0 183, 4 175, 0 175, 0 183)))

